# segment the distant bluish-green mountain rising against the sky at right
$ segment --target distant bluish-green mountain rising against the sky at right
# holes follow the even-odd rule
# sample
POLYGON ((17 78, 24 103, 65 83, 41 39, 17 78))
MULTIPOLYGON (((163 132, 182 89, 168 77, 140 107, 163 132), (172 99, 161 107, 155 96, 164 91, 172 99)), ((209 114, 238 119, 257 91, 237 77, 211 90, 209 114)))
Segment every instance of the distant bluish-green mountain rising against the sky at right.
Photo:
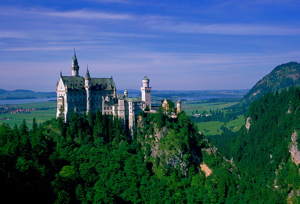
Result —
POLYGON ((300 64, 298 62, 289 62, 275 67, 268 75, 259 80, 244 95, 240 107, 248 107, 251 102, 261 98, 265 93, 281 90, 291 85, 300 85, 300 64))

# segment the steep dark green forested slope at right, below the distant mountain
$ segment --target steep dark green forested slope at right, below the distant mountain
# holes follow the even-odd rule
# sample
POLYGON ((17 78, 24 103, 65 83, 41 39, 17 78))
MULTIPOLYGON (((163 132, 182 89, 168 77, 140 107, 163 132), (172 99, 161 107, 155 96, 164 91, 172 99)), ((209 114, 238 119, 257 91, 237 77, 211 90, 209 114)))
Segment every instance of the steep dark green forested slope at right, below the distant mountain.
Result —
POLYGON ((253 203, 298 203, 300 87, 269 92, 253 102, 239 132, 210 136, 241 172, 238 194, 253 203), (259 199, 259 200, 257 200, 259 199))

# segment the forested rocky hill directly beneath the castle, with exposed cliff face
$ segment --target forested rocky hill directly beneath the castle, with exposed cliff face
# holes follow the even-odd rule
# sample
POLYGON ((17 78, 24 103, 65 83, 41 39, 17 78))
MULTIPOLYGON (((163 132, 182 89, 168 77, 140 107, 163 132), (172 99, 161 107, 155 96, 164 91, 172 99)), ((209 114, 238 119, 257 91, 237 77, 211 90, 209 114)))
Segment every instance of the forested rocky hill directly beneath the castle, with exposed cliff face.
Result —
POLYGON ((61 117, 32 123, 0 126, 2 203, 217 203, 236 194, 232 165, 184 113, 142 113, 133 136, 100 112, 72 114, 68 126, 61 117))

